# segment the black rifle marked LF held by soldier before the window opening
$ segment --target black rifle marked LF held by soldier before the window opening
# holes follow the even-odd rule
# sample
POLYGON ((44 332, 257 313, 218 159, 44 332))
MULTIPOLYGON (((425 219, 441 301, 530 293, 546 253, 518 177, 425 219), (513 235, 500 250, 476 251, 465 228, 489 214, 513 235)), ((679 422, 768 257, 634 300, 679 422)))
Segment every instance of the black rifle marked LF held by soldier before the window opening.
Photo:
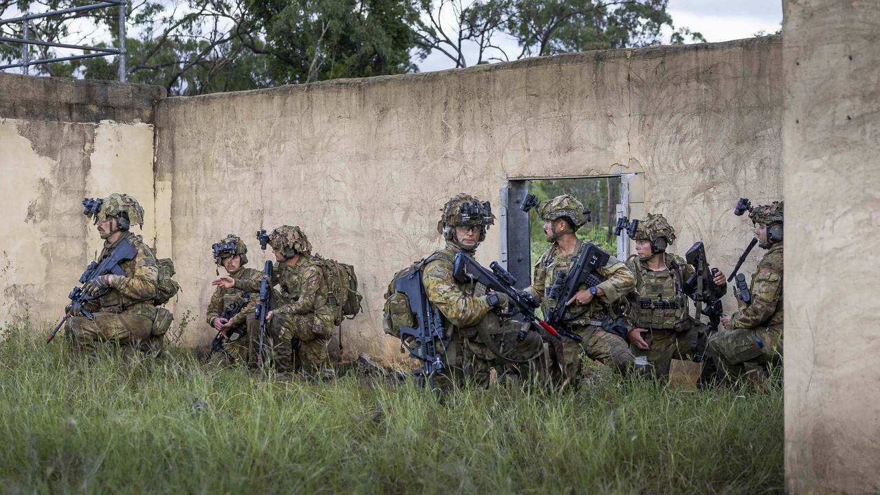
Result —
POLYGON ((608 264, 610 257, 611 255, 596 244, 583 241, 581 254, 577 256, 574 266, 568 270, 568 273, 557 273, 553 285, 550 286, 550 297, 556 301, 556 306, 551 307, 546 314, 547 323, 550 326, 559 328, 564 321, 573 320, 589 309, 586 307, 580 314, 565 318, 568 308, 566 303, 575 297, 581 285, 586 284, 592 287, 605 281, 599 275, 598 268, 608 264))

